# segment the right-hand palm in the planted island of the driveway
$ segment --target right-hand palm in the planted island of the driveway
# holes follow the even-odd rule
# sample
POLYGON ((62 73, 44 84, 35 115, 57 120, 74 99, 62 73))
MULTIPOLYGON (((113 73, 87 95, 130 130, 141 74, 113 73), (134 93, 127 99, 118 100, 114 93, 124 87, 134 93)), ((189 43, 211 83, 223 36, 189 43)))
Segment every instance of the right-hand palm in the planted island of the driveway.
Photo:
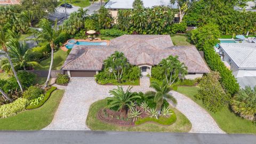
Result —
POLYGON ((145 96, 146 97, 154 97, 154 102, 156 103, 157 110, 161 110, 163 103, 164 103, 164 98, 168 98, 174 104, 177 104, 177 100, 171 94, 169 94, 169 92, 172 89, 169 85, 167 85, 166 81, 163 81, 162 85, 153 81, 153 82, 151 82, 150 87, 155 89, 156 92, 148 91, 145 93, 145 96))

